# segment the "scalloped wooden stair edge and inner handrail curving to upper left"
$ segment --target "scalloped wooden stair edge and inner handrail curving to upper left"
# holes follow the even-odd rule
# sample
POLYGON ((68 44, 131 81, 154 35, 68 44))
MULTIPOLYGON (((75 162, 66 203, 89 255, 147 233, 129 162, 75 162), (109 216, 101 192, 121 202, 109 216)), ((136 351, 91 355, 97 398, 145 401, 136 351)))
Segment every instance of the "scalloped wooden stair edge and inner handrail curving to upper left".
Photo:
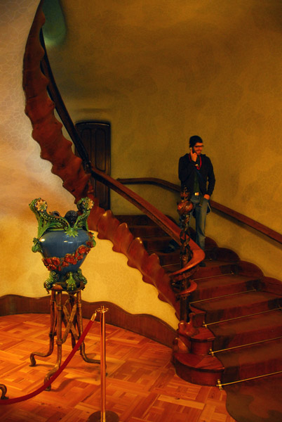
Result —
MULTIPOLYGON (((92 174, 93 177, 130 200, 178 242, 180 241, 180 228, 119 181, 103 174, 94 167, 90 167, 86 151, 83 151, 83 147, 79 146, 79 134, 76 133, 74 124, 69 122, 71 119, 55 86, 46 50, 41 44, 42 40, 40 41, 41 27, 45 21, 42 5, 43 0, 37 8, 27 39, 22 79, 26 96, 25 113, 32 122, 32 136, 41 147, 41 158, 52 163, 51 171, 62 179, 63 186, 72 193, 76 202, 83 196, 88 196, 95 201, 95 206, 88 219, 89 228, 98 231, 99 238, 107 238, 112 241, 114 244, 113 250, 123 252, 128 257, 128 265, 141 271, 143 281, 151 283, 157 288, 159 298, 173 305, 179 318, 180 302, 175 297, 171 287, 170 276, 166 274, 159 263, 159 257, 156 254, 149 255, 141 239, 133 238, 127 224, 121 224, 114 218, 110 210, 105 212, 98 206, 98 201, 94 197, 93 188, 90 185, 90 175, 92 174), (46 75, 44 75, 45 72, 46 75), (76 149, 81 154, 82 160, 74 155, 72 142, 62 135, 62 124, 54 114, 55 107, 58 109, 60 118, 67 127, 76 149)), ((192 260, 180 271, 177 271, 177 277, 189 278, 196 265, 203 260, 203 250, 193 241, 190 241, 190 245, 193 253, 192 260)))

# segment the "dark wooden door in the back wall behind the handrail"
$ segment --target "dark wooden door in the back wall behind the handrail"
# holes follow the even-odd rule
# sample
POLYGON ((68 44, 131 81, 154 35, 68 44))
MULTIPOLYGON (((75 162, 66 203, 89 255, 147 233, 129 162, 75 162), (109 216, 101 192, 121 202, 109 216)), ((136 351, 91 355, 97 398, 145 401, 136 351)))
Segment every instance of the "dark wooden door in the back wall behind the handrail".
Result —
MULTIPOLYGON (((109 175, 111 126, 103 122, 79 122, 75 125, 93 167, 109 175)), ((109 210, 109 188, 91 178, 100 207, 109 210)))

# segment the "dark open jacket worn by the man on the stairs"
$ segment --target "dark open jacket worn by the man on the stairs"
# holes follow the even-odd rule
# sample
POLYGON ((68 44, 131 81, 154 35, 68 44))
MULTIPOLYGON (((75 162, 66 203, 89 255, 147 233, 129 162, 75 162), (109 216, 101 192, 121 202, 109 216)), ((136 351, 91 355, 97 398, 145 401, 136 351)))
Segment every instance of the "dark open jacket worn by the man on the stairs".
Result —
POLYGON ((189 154, 183 155, 180 157, 179 165, 178 165, 178 177, 181 181, 181 186, 186 186, 188 192, 194 193, 194 177, 196 172, 199 172, 201 176, 199 176, 199 185, 201 189, 201 193, 205 195, 211 195, 213 193, 213 188, 215 187, 215 174, 213 172, 213 165, 205 154, 201 154, 201 168, 200 170, 196 170, 196 166, 194 165, 194 161, 189 159, 189 154), (208 182, 208 186, 207 186, 208 182))

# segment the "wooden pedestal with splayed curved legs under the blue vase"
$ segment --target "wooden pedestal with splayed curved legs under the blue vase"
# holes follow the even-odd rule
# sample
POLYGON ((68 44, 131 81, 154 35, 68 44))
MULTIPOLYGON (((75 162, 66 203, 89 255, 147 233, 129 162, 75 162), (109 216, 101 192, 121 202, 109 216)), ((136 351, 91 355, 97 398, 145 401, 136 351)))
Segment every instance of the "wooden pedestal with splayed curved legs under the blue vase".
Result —
MULTIPOLYGON (((54 340, 56 337, 57 345, 57 362, 53 369, 47 373, 44 378, 46 383, 51 376, 58 371, 62 362, 62 344, 65 343, 70 333, 72 336, 72 347, 76 345, 76 341, 83 333, 83 321, 81 312, 81 288, 77 288, 72 292, 67 292, 68 298, 65 302, 62 302, 62 293, 65 293, 62 286, 55 285, 51 289, 51 300, 50 300, 50 318, 51 326, 49 333, 49 350, 46 353, 32 352, 30 354, 30 366, 36 365, 34 356, 48 357, 53 353, 54 340), (65 331, 62 334, 62 324, 65 324, 65 331)), ((85 344, 81 343, 80 354, 84 361, 93 364, 100 364, 98 359, 90 359, 85 352, 85 344)), ((46 390, 51 390, 51 386, 46 390)))

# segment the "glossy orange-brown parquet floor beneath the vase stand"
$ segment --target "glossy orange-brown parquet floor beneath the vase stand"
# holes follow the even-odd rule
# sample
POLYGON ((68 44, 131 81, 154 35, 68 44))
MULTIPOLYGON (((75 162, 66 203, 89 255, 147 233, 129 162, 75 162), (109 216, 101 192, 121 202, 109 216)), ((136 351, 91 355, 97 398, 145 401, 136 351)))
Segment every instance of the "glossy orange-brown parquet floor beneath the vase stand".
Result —
MULTIPOLYGON (((56 349, 29 366, 31 352, 48 350, 49 319, 47 314, 0 317, 0 383, 9 398, 39 388, 53 368, 56 349)), ((99 322, 94 322, 85 343, 88 356, 99 359, 99 322)), ((68 338, 62 345, 62 362, 71 350, 68 338)), ((106 324, 106 352, 106 409, 118 414, 120 422, 234 422, 225 409, 224 391, 189 384, 175 375, 168 347, 106 324)), ((99 410, 100 368, 84 362, 77 352, 51 391, 0 406, 0 421, 84 422, 99 410)))

